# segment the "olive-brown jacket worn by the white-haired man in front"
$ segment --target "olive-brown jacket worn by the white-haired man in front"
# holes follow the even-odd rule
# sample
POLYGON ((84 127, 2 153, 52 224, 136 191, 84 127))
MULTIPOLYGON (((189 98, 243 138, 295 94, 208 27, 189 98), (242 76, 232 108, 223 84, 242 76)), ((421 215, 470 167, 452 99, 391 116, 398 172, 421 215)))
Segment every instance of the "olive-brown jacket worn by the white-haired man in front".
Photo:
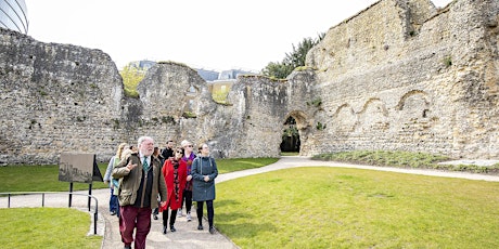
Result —
MULTIPOLYGON (((151 191, 151 208, 157 208, 157 195, 159 194, 161 200, 166 200, 166 184, 165 179, 161 172, 161 161, 151 156, 151 166, 153 167, 153 186, 151 191), (154 200, 154 201, 153 201, 154 200)), ((113 168, 113 178, 119 179, 118 200, 119 206, 133 205, 137 199, 137 191, 140 187, 142 178, 142 162, 138 153, 132 153, 129 157, 121 160, 113 168), (137 165, 131 171, 128 170, 127 165, 131 161, 137 165)))

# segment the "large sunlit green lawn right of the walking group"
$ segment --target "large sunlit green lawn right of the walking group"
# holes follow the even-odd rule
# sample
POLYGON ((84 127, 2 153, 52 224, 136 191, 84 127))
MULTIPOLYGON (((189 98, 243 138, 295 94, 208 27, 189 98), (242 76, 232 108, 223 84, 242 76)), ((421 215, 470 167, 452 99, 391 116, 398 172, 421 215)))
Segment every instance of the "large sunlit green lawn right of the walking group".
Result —
POLYGON ((499 183, 297 168, 217 184, 241 248, 499 248, 499 183))

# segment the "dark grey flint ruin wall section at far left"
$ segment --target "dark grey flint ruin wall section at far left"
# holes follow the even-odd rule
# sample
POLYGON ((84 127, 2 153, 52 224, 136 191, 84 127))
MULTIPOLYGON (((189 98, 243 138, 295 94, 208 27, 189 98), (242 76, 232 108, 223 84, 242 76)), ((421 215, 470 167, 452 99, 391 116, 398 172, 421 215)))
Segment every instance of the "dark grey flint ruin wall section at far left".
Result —
POLYGON ((54 163, 60 152, 99 152, 123 137, 112 121, 123 86, 108 55, 5 29, 0 40, 0 163, 54 163))

